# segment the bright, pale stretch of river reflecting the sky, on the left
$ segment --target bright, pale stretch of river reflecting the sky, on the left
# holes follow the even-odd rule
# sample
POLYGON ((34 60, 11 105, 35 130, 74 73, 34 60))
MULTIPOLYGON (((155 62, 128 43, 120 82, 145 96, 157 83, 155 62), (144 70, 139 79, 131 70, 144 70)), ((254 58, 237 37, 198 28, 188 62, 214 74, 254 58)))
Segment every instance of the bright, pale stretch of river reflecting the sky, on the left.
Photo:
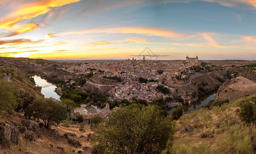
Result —
POLYGON ((36 86, 42 87, 41 93, 44 95, 44 98, 54 98, 59 100, 60 96, 54 91, 57 87, 46 80, 42 79, 40 76, 33 76, 36 86))

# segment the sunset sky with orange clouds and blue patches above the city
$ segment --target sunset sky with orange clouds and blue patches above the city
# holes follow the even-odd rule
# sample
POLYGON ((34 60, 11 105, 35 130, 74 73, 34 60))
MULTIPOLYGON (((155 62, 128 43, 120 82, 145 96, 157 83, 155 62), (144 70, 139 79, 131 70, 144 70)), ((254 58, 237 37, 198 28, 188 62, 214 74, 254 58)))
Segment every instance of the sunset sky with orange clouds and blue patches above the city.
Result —
POLYGON ((0 56, 255 60, 255 0, 0 0, 0 56))

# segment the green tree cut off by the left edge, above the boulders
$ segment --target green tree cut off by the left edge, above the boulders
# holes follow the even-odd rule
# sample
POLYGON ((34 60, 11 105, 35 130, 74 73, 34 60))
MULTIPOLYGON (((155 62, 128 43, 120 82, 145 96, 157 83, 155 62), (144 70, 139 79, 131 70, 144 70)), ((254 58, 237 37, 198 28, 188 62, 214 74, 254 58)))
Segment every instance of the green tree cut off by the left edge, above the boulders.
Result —
POLYGON ((6 80, 0 79, 0 110, 11 112, 17 106, 14 87, 6 80))

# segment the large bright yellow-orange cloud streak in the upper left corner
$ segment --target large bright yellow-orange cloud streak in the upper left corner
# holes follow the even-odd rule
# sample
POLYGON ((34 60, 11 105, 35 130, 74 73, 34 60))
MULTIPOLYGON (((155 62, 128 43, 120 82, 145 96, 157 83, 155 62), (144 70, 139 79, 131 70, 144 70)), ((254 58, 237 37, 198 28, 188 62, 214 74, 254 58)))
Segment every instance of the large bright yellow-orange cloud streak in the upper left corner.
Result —
POLYGON ((80 0, 49 0, 36 3, 25 4, 21 8, 10 15, 4 17, 0 21, 0 28, 14 31, 16 34, 31 31, 40 26, 35 23, 28 23, 21 26, 16 26, 20 21, 36 17, 38 15, 49 12, 53 7, 60 7, 66 4, 78 2, 80 0), (15 25, 15 26, 14 26, 15 25))

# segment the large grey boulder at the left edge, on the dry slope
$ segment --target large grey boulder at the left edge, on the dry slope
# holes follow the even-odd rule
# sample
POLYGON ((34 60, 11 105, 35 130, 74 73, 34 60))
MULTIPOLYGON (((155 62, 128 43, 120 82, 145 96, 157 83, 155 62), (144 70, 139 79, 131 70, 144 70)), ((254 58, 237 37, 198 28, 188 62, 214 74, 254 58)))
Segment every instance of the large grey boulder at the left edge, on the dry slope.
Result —
POLYGON ((10 140, 12 143, 18 143, 20 131, 9 122, 0 123, 0 140, 10 140))

